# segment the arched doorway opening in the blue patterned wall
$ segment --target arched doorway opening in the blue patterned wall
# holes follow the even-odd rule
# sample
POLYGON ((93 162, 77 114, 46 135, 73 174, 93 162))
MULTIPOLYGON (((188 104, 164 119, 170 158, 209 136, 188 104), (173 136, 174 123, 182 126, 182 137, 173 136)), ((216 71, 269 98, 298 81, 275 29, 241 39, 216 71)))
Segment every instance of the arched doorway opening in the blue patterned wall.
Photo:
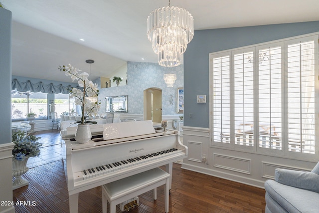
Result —
POLYGON ((144 120, 161 122, 161 89, 148 88, 144 90, 144 120))

